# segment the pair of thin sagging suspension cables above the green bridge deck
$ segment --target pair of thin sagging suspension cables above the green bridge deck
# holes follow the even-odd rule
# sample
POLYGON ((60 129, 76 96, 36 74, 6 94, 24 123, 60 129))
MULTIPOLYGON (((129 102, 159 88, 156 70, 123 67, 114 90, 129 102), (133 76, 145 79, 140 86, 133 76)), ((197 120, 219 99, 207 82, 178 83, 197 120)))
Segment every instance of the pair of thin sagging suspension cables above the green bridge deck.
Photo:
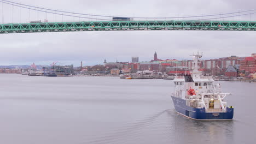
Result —
MULTIPOLYGON (((46 10, 49 10, 49 11, 47 11, 48 13, 51 13, 50 11, 54 11, 55 12, 55 13, 53 12, 51 14, 56 14, 56 12, 73 14, 73 15, 66 15, 65 14, 65 16, 74 16, 74 14, 75 14, 75 15, 98 16, 98 17, 119 17, 119 16, 109 16, 109 15, 95 15, 95 14, 72 13, 70 11, 49 9, 49 8, 43 8, 43 7, 36 7, 36 6, 33 6, 33 5, 21 4, 21 3, 16 3, 16 2, 7 1, 7 0, 0 0, 0 1, 2 1, 3 3, 6 3, 6 4, 19 4, 19 5, 15 5, 17 7, 22 7, 21 5, 23 5, 23 6, 26 6, 26 7, 31 7, 30 9, 36 8, 36 9, 33 9, 33 10, 38 10, 38 11, 43 11, 44 10, 43 12, 46 12, 46 10), (43 9, 43 10, 39 10, 39 9, 43 9)), ((26 7, 22 7, 22 8, 26 8, 26 7)), ((226 17, 235 17, 235 16, 255 14, 255 13, 248 13, 250 11, 256 11, 256 9, 244 10, 244 11, 236 11, 236 12, 232 12, 232 13, 210 14, 210 15, 195 15, 195 16, 178 16, 178 17, 135 17, 135 16, 124 16, 124 17, 130 17, 130 18, 134 18, 134 19, 184 19, 184 18, 195 18, 195 17, 222 16, 222 17, 214 17, 214 18, 204 19, 204 20, 211 20, 211 19, 221 19, 221 18, 226 18, 226 17), (247 13, 247 14, 241 14, 241 13, 247 13), (225 16, 225 17, 223 17, 223 15, 231 15, 231 14, 239 14, 239 15, 232 15, 232 16, 225 16)), ((74 17, 96 19, 96 20, 104 20, 104 19, 99 19, 99 18, 82 17, 82 16, 74 16, 74 17)))

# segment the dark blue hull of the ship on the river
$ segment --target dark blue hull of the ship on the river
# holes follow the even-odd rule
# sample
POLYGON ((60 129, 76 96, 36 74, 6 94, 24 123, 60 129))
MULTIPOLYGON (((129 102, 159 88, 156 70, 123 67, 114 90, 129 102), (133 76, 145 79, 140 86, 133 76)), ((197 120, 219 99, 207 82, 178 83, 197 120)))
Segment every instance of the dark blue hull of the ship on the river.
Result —
POLYGON ((185 117, 199 120, 229 120, 233 118, 234 108, 226 108, 226 112, 205 112, 205 108, 197 109, 186 105, 186 101, 172 96, 175 110, 185 117))

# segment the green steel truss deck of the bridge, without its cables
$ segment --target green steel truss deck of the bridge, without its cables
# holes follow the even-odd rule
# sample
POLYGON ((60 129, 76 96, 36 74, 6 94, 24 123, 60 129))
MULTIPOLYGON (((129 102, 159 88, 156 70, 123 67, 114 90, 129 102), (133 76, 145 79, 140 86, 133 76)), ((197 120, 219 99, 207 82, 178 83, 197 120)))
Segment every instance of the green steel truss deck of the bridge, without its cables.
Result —
POLYGON ((78 32, 78 31, 256 31, 256 21, 96 21, 7 23, 0 33, 78 32))

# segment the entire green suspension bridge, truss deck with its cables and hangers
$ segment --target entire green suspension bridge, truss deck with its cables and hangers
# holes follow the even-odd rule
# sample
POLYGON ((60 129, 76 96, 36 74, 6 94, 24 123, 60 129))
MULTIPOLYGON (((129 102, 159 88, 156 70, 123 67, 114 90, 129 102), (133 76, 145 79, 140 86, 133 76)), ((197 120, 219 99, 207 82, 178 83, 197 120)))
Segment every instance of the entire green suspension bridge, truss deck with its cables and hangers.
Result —
MULTIPOLYGON (((256 14, 256 9, 245 10, 225 14, 212 14, 204 16, 183 16, 183 17, 126 17, 125 21, 112 21, 114 16, 106 15, 92 15, 72 13, 69 11, 61 11, 54 9, 46 9, 42 7, 34 7, 33 5, 16 3, 8 0, 0 0, 2 4, 2 23, 0 23, 0 34, 7 33, 42 33, 42 32, 79 32, 79 31, 160 31, 160 30, 173 30, 173 31, 256 31, 256 21, 218 21, 217 19, 224 19, 235 16, 251 17, 256 14), (3 7, 3 5, 7 7, 3 7), (14 8, 36 11, 38 13, 62 16, 62 22, 45 22, 30 21, 27 23, 14 22, 14 8), (12 14, 12 22, 4 23, 4 9, 9 10, 12 14), (12 10, 12 12, 11 12, 12 10), (63 16, 79 18, 79 21, 65 22, 63 16), (217 17, 216 17, 217 16, 217 17), (221 16, 221 17, 218 17, 221 16), (131 18, 131 19, 130 19, 131 18), (80 19, 84 19, 80 21, 80 19), (95 21, 89 21, 95 20, 95 21), (139 20, 134 20, 139 19, 139 20), (165 19, 165 20, 162 20, 165 19), (169 19, 169 20, 166 20, 169 19), (190 20, 174 20, 174 19, 190 19, 190 20), (192 20, 191 20, 192 19, 192 20), (201 19, 201 20, 193 20, 201 19)), ((5 16, 10 18, 11 16, 5 16)), ((21 16, 20 16, 21 17, 21 16)), ((38 19, 38 17, 37 17, 38 19)), ((30 18, 29 18, 30 20, 30 18)), ((55 20, 57 21, 57 20, 55 20)))

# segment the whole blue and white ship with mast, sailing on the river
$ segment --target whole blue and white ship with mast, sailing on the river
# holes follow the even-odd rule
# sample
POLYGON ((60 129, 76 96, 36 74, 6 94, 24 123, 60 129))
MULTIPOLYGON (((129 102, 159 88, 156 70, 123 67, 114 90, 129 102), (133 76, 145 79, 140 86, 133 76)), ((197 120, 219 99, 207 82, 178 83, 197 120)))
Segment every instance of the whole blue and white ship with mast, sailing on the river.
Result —
POLYGON ((197 120, 230 120, 234 108, 229 106, 222 93, 220 84, 214 83, 212 76, 203 76, 198 70, 202 55, 194 56, 193 70, 190 74, 174 79, 174 93, 171 95, 177 113, 197 120))

